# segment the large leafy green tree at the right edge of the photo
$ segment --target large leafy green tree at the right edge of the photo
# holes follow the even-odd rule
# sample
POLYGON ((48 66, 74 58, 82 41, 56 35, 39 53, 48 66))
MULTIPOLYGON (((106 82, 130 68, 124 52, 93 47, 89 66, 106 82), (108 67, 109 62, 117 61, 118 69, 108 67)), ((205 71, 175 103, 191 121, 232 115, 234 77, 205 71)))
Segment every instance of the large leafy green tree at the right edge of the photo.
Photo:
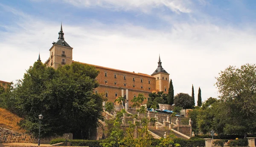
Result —
POLYGON ((256 118, 256 65, 229 66, 216 79, 221 100, 219 113, 215 116, 218 131, 226 134, 256 133, 253 127, 253 118, 256 118))

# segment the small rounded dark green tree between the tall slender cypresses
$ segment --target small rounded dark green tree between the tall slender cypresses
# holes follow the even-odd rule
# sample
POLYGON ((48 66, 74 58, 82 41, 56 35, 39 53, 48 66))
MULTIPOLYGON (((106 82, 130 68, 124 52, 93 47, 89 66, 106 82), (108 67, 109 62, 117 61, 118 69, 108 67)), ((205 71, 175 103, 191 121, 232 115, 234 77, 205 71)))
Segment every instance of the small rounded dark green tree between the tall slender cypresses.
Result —
POLYGON ((174 97, 175 106, 180 106, 183 109, 192 109, 193 108, 193 100, 192 96, 189 96, 187 93, 178 93, 174 97))

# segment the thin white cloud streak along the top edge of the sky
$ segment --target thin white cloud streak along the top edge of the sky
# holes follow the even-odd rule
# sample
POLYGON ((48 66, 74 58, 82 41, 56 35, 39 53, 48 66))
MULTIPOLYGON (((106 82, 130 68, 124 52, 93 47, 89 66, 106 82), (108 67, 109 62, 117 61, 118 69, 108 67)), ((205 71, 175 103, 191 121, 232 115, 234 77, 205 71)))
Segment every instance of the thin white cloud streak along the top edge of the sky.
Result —
POLYGON ((77 7, 99 6, 112 11, 143 11, 149 13, 154 8, 166 7, 176 13, 190 13, 190 0, 64 0, 77 7))

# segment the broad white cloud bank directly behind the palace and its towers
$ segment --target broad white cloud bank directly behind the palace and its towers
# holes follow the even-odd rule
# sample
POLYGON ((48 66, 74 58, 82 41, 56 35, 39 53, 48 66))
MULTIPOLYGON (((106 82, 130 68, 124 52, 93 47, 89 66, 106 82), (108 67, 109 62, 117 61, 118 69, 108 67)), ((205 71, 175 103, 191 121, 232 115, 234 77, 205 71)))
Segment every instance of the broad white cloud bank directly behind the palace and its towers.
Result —
MULTIPOLYGON (((18 13, 19 14, 19 13, 18 13)), ((20 28, 6 26, 0 34, 1 80, 15 81, 38 57, 45 62, 52 41, 58 38, 60 24, 24 14, 20 28)), ((191 94, 197 99, 201 87, 203 100, 217 97, 215 76, 229 65, 255 62, 256 35, 211 23, 173 23, 172 28, 152 30, 141 26, 63 25, 65 40, 73 47, 73 60, 94 65, 151 74, 160 53, 163 68, 170 73, 175 94, 191 94)), ((247 31, 248 30, 248 31, 247 31)))

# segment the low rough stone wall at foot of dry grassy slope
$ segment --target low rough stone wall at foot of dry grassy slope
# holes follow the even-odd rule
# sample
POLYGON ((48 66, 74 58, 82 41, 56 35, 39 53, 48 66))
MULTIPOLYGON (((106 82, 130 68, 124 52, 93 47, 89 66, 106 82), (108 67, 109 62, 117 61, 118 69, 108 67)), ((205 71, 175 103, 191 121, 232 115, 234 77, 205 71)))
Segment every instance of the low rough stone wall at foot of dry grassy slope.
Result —
MULTIPOLYGON (((41 144, 49 144, 52 139, 64 138, 72 139, 72 133, 65 133, 63 136, 54 136, 42 138, 41 144)), ((38 136, 33 136, 31 133, 19 133, 3 127, 0 127, 0 143, 20 142, 20 143, 38 143, 38 136)))

